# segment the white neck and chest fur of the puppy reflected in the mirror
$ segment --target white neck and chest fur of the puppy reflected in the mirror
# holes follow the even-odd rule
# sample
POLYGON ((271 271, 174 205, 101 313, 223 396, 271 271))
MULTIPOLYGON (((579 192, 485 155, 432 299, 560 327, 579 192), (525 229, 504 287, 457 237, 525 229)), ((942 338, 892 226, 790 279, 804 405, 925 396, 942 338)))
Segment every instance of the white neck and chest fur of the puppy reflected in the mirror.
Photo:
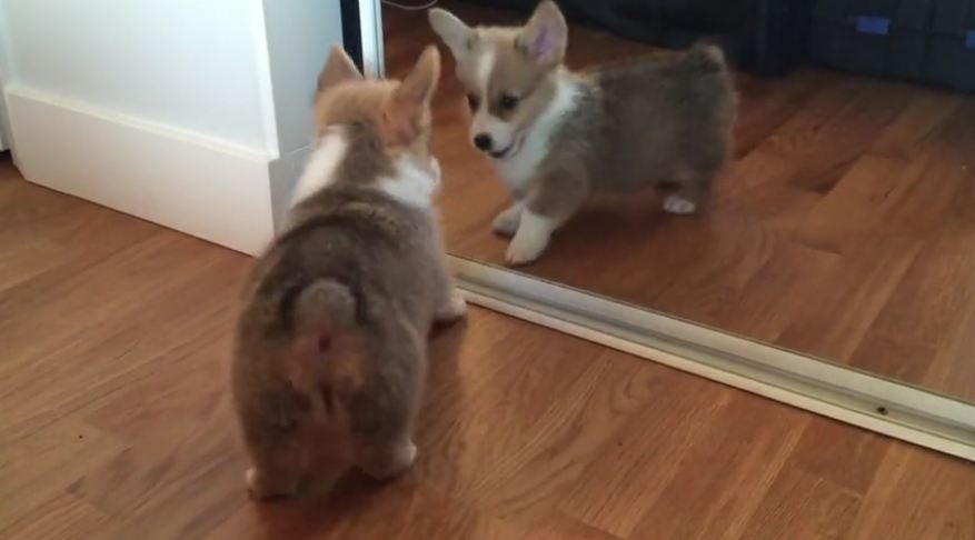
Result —
POLYGON ((548 154, 553 133, 576 110, 580 93, 575 82, 560 74, 555 97, 535 121, 535 126, 524 136, 525 140, 517 153, 506 159, 491 160, 508 190, 524 191, 534 179, 538 164, 548 154))

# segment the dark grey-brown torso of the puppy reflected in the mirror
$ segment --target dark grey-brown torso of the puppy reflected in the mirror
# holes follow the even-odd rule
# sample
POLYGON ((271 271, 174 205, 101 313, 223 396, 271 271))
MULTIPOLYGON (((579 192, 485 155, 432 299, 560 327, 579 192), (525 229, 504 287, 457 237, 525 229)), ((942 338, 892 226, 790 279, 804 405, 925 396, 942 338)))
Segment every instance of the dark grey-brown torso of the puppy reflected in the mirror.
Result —
POLYGON ((631 189, 648 179, 669 181, 681 169, 724 164, 736 97, 717 47, 661 51, 603 66, 589 77, 597 106, 576 121, 590 126, 590 173, 601 188, 631 189))

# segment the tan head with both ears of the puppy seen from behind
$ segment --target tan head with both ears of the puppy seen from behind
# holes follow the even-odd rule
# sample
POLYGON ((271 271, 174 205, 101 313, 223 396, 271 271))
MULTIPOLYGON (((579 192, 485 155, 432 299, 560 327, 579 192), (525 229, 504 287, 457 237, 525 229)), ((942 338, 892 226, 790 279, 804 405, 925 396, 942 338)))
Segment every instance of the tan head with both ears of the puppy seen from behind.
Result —
POLYGON ((439 170, 430 151, 430 102, 440 79, 440 53, 427 47, 402 81, 368 80, 346 52, 335 47, 318 78, 316 130, 356 127, 378 143, 380 157, 407 158, 420 168, 439 170))

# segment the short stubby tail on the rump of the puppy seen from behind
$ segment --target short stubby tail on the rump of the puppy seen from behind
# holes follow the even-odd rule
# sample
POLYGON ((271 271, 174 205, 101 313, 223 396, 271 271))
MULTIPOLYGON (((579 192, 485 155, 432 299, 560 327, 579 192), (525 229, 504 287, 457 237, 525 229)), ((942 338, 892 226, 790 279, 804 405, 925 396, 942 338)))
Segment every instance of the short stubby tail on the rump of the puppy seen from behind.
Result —
POLYGON ((356 309, 356 298, 348 286, 332 279, 314 281, 295 300, 296 331, 314 332, 327 341, 336 330, 355 323, 356 309))

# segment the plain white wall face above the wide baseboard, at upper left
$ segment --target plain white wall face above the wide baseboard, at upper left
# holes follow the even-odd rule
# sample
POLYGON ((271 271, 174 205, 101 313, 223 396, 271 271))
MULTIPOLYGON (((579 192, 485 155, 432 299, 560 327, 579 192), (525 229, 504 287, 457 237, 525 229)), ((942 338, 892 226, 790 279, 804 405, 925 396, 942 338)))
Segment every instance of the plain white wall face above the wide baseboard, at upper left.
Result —
POLYGON ((19 84, 271 148, 248 0, 7 0, 19 84))

